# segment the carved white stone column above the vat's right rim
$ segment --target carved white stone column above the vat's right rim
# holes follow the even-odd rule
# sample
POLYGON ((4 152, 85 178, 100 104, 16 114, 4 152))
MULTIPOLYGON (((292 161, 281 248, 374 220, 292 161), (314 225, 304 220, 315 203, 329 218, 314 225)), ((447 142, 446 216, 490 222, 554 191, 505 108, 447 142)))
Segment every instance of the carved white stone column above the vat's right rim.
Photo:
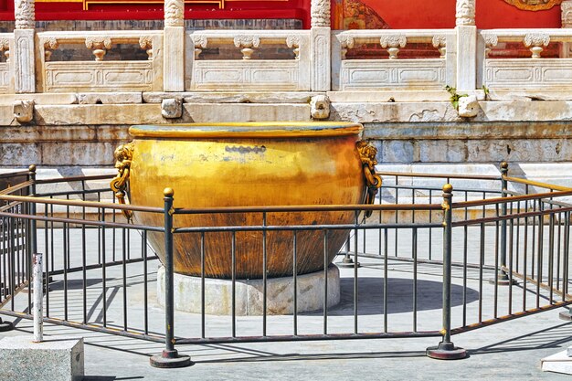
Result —
POLYGON ((312 90, 330 90, 330 0, 312 0, 312 90))

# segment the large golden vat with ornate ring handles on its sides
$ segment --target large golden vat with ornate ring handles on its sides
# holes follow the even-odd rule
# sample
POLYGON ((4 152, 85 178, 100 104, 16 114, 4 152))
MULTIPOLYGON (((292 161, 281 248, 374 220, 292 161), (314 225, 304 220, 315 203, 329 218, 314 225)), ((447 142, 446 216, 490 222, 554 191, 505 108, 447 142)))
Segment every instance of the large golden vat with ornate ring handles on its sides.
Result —
MULTIPOLYGON (((175 208, 360 204, 368 183, 370 194, 380 185, 372 177, 376 150, 359 141, 362 129, 337 122, 133 126, 132 143, 116 151, 116 181, 125 180, 128 166, 130 202, 142 206, 163 206, 165 187, 175 190, 175 208)), ((133 216, 154 226, 162 226, 163 218, 133 216)), ((352 223, 355 213, 281 212, 265 219, 261 213, 176 214, 175 228, 344 224, 352 223)), ((298 273, 323 270, 324 253, 330 263, 348 234, 329 230, 324 250, 323 231, 298 232, 298 273)), ((163 238, 149 234, 162 261, 163 238)), ((201 275, 201 240, 200 233, 175 234, 175 272, 201 275)), ((206 233, 203 243, 206 276, 230 279, 232 233, 206 233)), ((265 239, 260 231, 237 232, 234 247, 237 279, 262 277, 264 251, 268 277, 292 274, 291 231, 268 231, 265 239)))

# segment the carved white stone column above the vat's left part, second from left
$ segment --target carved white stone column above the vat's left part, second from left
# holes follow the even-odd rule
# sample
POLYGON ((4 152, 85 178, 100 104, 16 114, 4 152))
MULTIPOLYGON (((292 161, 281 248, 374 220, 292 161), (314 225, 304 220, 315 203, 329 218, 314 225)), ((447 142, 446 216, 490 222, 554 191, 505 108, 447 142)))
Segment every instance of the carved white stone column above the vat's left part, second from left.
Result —
POLYGON ((164 2, 164 91, 185 90, 185 1, 164 2))

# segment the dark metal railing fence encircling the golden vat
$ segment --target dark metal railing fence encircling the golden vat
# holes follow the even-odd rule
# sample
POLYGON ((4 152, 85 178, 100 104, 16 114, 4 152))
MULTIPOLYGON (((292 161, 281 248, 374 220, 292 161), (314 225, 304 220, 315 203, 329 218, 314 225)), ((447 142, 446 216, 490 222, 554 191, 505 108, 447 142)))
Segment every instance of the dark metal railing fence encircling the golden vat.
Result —
MULTIPOLYGON (((34 168, 31 168, 34 169, 34 168)), ((20 173, 19 184, 0 192, 0 313, 31 319, 31 254, 45 257, 45 318, 77 328, 164 342, 157 366, 184 365, 179 344, 262 341, 340 340, 386 337, 440 337, 428 349, 437 358, 459 358, 465 351, 451 335, 516 317, 566 306, 572 189, 499 176, 379 173, 378 203, 372 206, 265 206, 173 208, 118 204, 108 188, 111 176, 36 181, 20 173), (444 185, 444 186, 443 186, 444 185), (28 192, 29 195, 26 194, 28 192), (344 224, 273 224, 285 213, 344 212, 344 224), (164 221, 145 226, 124 214, 150 214, 164 221), (248 226, 185 226, 185 216, 220 214, 257 218, 248 226), (365 215, 371 215, 365 217, 365 215), (338 253, 344 259, 341 303, 328 307, 328 248, 332 232, 349 231, 338 253), (224 233, 224 234, 221 234, 224 233), (231 292, 218 299, 206 291, 210 249, 217 234, 228 248, 231 292), (164 238, 164 308, 156 302, 159 260, 149 241, 164 238), (262 309, 260 316, 237 313, 237 239, 260 240, 262 309), (286 315, 270 311, 267 242, 280 235, 291 248, 291 303, 286 315), (323 257, 322 305, 299 312, 299 253, 305 236, 319 237, 323 257), (196 239, 201 274, 200 309, 175 311, 174 241, 196 239), (19 243, 16 243, 19 242, 19 243), (355 262, 364 262, 355 266, 355 262), (210 303, 227 302, 228 316, 208 313, 210 303), (159 318, 157 318, 159 317, 159 318), (164 323, 158 323, 162 322, 164 323), (175 335, 176 323, 176 335, 175 335)), ((137 220, 137 219, 135 219, 137 220)), ((341 257, 340 257, 341 258, 341 257)), ((566 317, 567 314, 565 313, 566 317)))

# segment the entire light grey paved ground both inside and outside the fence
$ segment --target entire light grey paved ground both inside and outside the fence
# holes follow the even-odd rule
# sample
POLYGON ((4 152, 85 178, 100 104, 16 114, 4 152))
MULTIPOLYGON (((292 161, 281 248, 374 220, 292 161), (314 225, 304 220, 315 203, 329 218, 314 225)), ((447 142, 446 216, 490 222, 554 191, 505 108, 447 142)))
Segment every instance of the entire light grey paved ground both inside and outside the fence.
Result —
MULTIPOLYGON (((77 236, 74 236, 77 237, 77 236)), ((426 239, 423 238, 423 242, 426 239)), ((405 237, 405 242, 410 241, 405 237)), ((435 244, 435 242, 434 242, 435 244)), ((422 246, 422 242, 419 242, 422 246)), ((73 242, 72 242, 73 247, 73 242)), ((140 252, 132 240, 133 252, 140 252)), ((74 251, 74 250, 72 250, 74 251)), ((375 252, 375 251, 374 251, 375 252)), ((487 250, 493 252, 493 250, 487 250)), ((359 270, 360 332, 379 332, 383 328, 383 266, 378 259, 361 259, 359 270)), ((154 272, 158 262, 150 263, 149 326, 152 332, 162 332, 162 308, 155 302, 154 272)), ((142 265, 126 268, 129 306, 129 326, 141 326, 143 319, 142 265)), ((387 304, 388 331, 412 329, 412 265, 390 261, 388 266, 387 304)), ((101 270, 89 270, 88 319, 101 323, 101 270)), ((440 267, 419 265, 418 269, 418 329, 440 329, 440 267)), ((83 309, 80 273, 69 275, 69 318, 80 320, 83 309)), ((328 328, 331 333, 353 331, 353 270, 344 269, 342 302, 331 311, 328 328)), ((492 274, 484 273, 483 279, 492 274)), ((105 298, 108 301, 108 323, 122 325, 122 269, 108 268, 105 298)), ((50 291, 50 314, 62 313, 60 277, 50 291), (58 283, 58 280, 60 283, 58 283)), ((461 325, 463 304, 461 270, 453 270, 453 326, 461 325)), ((479 271, 470 270, 467 283, 466 311, 468 323, 478 316, 479 287, 482 287, 483 319, 492 317, 493 285, 479 282, 479 271)), ((534 305, 535 295, 515 286, 514 311, 524 298, 528 308, 534 305)), ((506 313, 508 288, 498 293, 499 314, 506 313)), ((26 294, 19 296, 18 308, 26 302, 26 294)), ((544 301, 543 301, 544 302, 544 301)), ((7 318, 6 320, 11 320, 7 318)), ((200 317, 177 312, 175 333, 196 337, 200 317)), ((228 317, 207 316, 207 335, 229 335, 228 317)), ((270 316, 269 333, 291 333, 291 316, 270 316)), ((302 333, 320 333, 321 313, 307 313, 300 317, 302 333)), ((29 321, 16 321, 16 330, 4 335, 31 335, 29 321)), ((438 338, 380 339, 361 341, 329 341, 267 344, 208 344, 178 346, 181 353, 190 355, 195 365, 183 369, 156 369, 149 365, 149 356, 161 352, 163 345, 126 339, 104 333, 73 330, 62 326, 45 327, 47 338, 58 335, 83 336, 85 339, 86 380, 559 380, 570 376, 543 373, 540 360, 572 345, 572 324, 558 319, 558 311, 549 311, 514 321, 496 324, 470 333, 453 336, 455 344, 469 350, 470 357, 458 361, 432 360, 425 356, 425 348, 438 344, 438 338)), ((243 317, 238 320, 238 335, 260 334, 260 318, 243 317)))

